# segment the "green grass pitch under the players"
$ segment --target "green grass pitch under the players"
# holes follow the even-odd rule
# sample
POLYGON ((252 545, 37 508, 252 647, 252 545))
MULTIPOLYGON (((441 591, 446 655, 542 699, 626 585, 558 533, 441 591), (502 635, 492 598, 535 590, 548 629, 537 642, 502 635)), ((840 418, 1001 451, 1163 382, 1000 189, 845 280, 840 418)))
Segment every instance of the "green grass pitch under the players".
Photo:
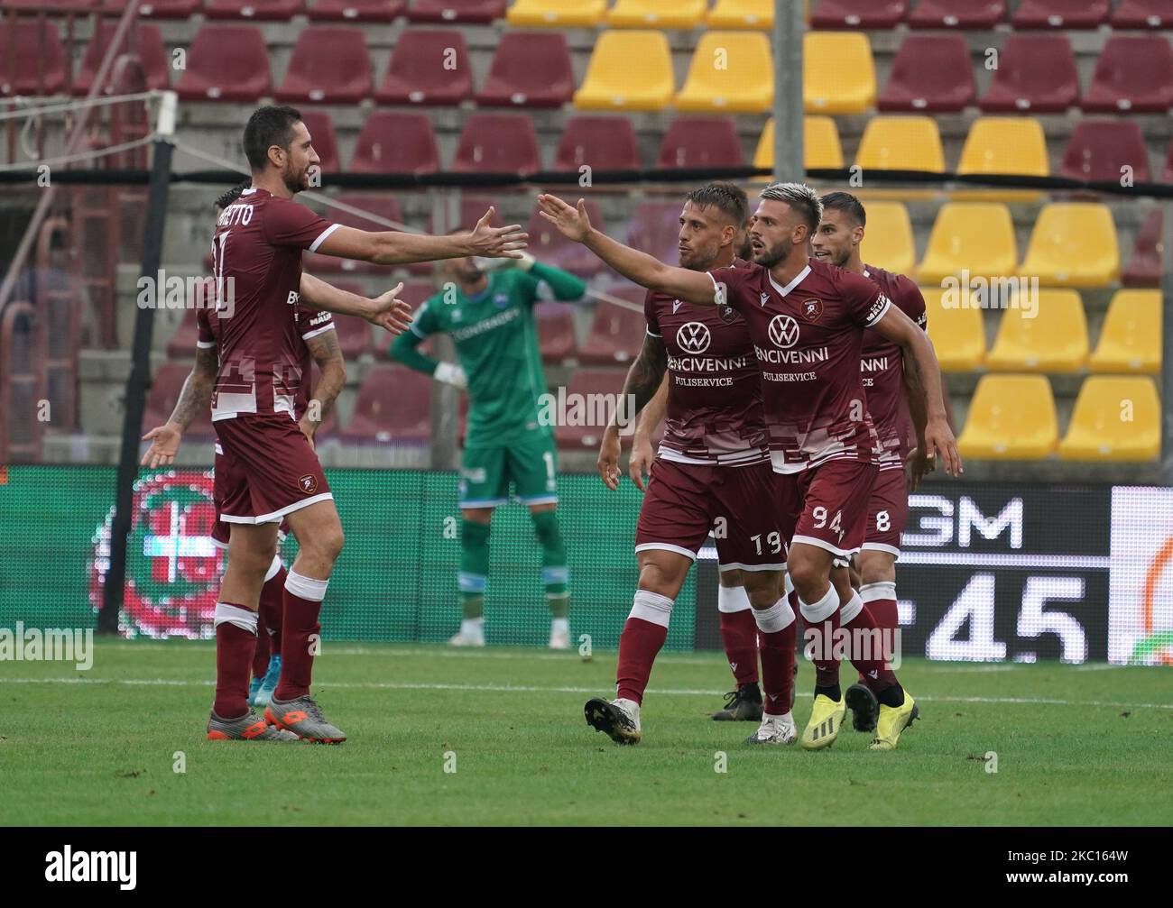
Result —
MULTIPOLYGON (((87 673, 0 663, 0 824, 1173 822, 1168 669, 907 661, 923 721, 893 753, 849 728, 818 753, 744 745, 751 723, 707 718, 719 654, 657 661, 635 747, 583 721, 613 653, 327 641, 314 695, 340 746, 206 742, 213 671, 188 642, 99 642, 87 673)), ((800 729, 812 683, 804 663, 800 729)))

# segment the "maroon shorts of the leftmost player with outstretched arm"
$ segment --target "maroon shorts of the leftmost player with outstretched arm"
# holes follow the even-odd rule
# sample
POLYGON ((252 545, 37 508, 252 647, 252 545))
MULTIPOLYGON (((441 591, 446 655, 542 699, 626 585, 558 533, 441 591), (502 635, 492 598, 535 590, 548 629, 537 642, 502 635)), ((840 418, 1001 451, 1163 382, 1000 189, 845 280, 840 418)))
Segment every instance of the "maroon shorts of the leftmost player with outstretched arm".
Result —
POLYGON ((221 520, 277 524, 334 497, 318 456, 289 416, 237 416, 213 425, 224 451, 213 483, 221 520))

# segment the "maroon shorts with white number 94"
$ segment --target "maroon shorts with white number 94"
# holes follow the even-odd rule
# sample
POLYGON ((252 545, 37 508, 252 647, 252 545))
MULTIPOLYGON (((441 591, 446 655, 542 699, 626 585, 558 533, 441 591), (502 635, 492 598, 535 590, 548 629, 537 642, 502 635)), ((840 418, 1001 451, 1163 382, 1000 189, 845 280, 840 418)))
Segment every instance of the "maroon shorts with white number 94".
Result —
POLYGON ((825 548, 846 566, 863 546, 868 500, 880 467, 859 460, 827 460, 800 473, 780 473, 778 494, 781 523, 794 542, 825 548))

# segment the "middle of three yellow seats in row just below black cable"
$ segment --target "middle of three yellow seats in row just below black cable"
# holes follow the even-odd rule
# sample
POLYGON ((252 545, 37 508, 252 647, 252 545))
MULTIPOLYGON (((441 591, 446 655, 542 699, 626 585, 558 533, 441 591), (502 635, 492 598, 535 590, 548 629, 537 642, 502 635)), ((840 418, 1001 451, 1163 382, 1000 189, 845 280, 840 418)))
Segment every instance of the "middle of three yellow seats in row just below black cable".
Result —
POLYGON ((1005 205, 949 203, 937 212, 918 278, 940 284, 963 271, 975 278, 1012 275, 1017 261, 1015 225, 1005 205))

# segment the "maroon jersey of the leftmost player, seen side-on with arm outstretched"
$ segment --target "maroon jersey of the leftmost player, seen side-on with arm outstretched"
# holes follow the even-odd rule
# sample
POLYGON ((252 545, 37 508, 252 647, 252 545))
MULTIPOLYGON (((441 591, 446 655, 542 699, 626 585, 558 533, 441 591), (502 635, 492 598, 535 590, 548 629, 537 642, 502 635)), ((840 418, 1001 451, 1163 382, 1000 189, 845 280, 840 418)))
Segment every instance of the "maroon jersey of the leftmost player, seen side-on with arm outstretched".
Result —
POLYGON ((337 227, 260 189, 246 189, 221 212, 212 237, 221 321, 213 422, 240 414, 292 418, 303 381, 294 318, 301 251, 316 252, 337 227))

